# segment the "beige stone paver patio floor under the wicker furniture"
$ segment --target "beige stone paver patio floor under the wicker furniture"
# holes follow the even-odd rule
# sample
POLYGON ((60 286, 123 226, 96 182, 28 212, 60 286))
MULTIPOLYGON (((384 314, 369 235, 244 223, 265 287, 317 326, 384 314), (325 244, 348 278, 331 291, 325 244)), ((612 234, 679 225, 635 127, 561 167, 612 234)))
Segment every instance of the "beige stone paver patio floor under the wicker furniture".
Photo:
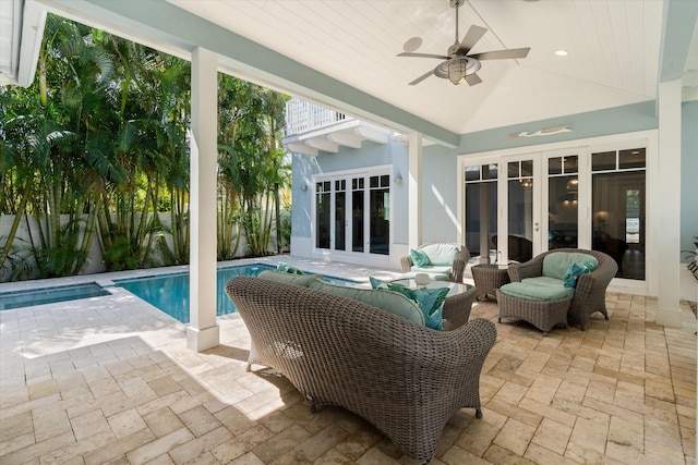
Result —
MULTIPOLYGON (((595 314, 583 332, 497 325, 484 417, 455 415, 433 463, 694 464, 694 314, 684 305, 684 328, 669 329, 654 298, 606 299, 610 320, 595 314)), ((496 314, 480 302, 471 318, 496 314)), ((311 414, 286 379, 246 372, 242 320, 219 325, 221 344, 193 353, 185 325, 118 287, 0 311, 0 464, 412 463, 351 413, 311 414)))

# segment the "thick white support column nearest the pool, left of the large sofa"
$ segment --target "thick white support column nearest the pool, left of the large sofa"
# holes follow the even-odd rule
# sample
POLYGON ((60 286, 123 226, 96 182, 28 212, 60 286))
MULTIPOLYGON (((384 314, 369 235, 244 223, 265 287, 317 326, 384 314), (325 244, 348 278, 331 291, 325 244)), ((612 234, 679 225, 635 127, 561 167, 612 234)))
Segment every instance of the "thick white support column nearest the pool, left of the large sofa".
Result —
POLYGON ((220 343, 216 323, 216 169, 218 56, 192 53, 190 187, 190 323, 186 346, 202 352, 220 343))

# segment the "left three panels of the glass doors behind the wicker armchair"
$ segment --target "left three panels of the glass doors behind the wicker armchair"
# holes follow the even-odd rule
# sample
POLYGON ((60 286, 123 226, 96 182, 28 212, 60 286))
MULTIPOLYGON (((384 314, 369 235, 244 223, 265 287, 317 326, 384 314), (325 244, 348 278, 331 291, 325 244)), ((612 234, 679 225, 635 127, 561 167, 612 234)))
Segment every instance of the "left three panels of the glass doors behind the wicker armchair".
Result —
POLYGON ((578 166, 575 150, 466 166, 466 245, 471 254, 482 262, 521 262, 543 250, 577 247, 578 166))

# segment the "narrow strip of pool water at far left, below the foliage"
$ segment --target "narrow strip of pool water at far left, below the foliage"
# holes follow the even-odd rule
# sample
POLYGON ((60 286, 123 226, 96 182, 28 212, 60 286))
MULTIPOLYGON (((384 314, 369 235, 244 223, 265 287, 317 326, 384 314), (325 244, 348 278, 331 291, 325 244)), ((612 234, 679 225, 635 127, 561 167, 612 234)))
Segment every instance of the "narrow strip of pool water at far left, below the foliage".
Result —
POLYGON ((98 297, 100 295, 109 295, 109 291, 106 291, 95 282, 62 285, 59 287, 40 287, 2 292, 0 293, 0 310, 53 304, 57 302, 76 301, 79 298, 98 297))

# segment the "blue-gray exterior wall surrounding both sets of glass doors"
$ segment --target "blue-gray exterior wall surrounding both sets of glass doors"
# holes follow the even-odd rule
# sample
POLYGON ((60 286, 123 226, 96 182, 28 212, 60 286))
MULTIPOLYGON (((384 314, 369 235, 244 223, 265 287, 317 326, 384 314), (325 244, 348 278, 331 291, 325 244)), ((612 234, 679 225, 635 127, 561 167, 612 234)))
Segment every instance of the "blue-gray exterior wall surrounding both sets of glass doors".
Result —
MULTIPOLYGON (((682 219, 681 246, 694 249, 693 240, 698 235, 698 100, 684 102, 682 107, 682 219)), ((540 137, 509 137, 522 131, 534 132, 541 127, 569 125, 573 130, 544 138, 545 143, 599 137, 604 135, 655 130, 658 119, 655 102, 629 105, 606 110, 534 121, 478 133, 464 134, 458 148, 440 145, 424 147, 422 167, 422 241, 453 241, 459 236, 457 218, 457 171, 459 155, 526 147, 541 144, 540 137)), ((661 157, 661 154, 660 154, 661 157)), ((375 166, 393 166, 393 173, 401 173, 407 180, 408 151, 402 144, 386 145, 363 143, 360 150, 344 148, 338 154, 318 157, 293 156, 293 235, 310 237, 311 191, 313 174, 332 173, 375 166), (309 189, 300 186, 306 183, 309 189)), ((407 182, 393 185, 394 243, 408 244, 408 192, 407 182)), ((685 261, 685 260, 684 260, 685 261)))

